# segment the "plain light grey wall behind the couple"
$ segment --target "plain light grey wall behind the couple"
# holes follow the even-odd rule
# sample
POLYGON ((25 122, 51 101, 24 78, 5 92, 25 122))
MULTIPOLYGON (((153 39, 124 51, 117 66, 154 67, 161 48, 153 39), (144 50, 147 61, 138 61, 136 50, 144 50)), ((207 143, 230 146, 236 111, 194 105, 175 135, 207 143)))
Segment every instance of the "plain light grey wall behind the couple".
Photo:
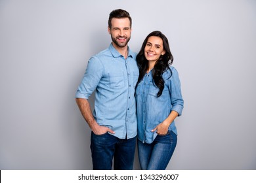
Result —
POLYGON ((171 44, 184 110, 167 168, 256 169, 254 0, 0 0, 0 169, 91 169, 74 97, 116 8, 133 51, 154 30, 171 44))

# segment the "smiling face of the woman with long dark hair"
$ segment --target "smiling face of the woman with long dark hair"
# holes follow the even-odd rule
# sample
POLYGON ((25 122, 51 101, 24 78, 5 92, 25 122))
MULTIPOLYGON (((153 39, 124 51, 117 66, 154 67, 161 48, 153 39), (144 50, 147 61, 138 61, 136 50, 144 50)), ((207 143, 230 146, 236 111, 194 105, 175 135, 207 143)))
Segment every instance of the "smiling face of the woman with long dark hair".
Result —
POLYGON ((164 54, 165 50, 163 49, 163 40, 156 36, 149 37, 144 48, 144 55, 146 59, 150 62, 156 63, 160 56, 164 54))

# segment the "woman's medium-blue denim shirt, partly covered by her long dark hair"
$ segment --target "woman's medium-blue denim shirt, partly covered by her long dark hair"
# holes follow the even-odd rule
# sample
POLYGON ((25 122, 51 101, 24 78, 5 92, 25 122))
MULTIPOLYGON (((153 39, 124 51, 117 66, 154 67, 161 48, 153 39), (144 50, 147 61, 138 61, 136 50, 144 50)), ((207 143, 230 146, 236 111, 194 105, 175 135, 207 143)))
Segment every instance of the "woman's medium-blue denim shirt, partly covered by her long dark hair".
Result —
MULTIPOLYGON (((181 95, 181 82, 174 67, 170 67, 163 73, 164 88, 160 97, 157 97, 159 88, 153 84, 152 71, 145 74, 139 82, 136 90, 137 122, 139 141, 152 143, 157 136, 156 131, 151 132, 158 124, 163 122, 172 110, 181 116, 184 101, 181 95), (171 76, 171 77, 170 77, 171 76)), ((175 122, 169 126, 169 130, 177 134, 175 122)))

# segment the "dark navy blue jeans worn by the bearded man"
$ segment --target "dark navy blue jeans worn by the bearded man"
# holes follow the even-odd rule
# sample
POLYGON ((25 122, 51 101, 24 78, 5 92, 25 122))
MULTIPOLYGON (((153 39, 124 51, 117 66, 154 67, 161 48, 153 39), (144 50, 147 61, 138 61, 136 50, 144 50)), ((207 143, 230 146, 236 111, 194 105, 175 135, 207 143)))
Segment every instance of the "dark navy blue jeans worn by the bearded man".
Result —
POLYGON ((114 158, 115 170, 132 170, 135 157, 136 137, 119 139, 104 133, 91 133, 91 154, 94 170, 111 170, 114 158))

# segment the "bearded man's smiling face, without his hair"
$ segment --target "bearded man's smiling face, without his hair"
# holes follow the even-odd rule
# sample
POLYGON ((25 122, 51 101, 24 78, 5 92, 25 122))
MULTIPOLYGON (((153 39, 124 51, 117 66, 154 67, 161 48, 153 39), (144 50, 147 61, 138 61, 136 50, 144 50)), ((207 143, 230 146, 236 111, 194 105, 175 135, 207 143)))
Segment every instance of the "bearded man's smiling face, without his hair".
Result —
POLYGON ((129 18, 113 18, 112 27, 108 27, 111 35, 113 46, 115 48, 123 48, 131 39, 131 27, 129 18))

